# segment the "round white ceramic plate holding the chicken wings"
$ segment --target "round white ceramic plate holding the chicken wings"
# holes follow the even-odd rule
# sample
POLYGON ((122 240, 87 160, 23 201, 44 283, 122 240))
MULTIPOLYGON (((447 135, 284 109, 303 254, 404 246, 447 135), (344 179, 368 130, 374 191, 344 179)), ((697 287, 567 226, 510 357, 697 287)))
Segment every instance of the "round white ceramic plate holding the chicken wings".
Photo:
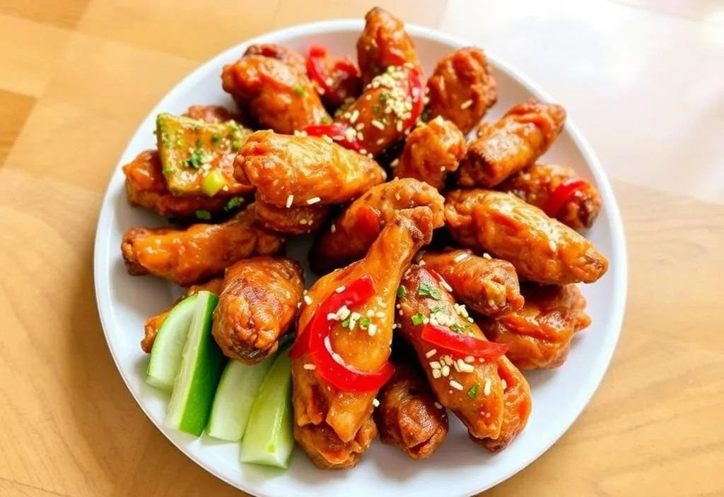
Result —
MULTIPOLYGON (((626 253, 618 207, 603 169, 569 117, 563 134, 545 159, 573 165, 601 191, 604 207, 588 235, 608 257, 610 269, 594 285, 583 287, 593 324, 576 337, 565 365, 556 371, 526 375, 533 393, 533 412, 526 430, 508 449, 494 456, 488 454, 468 441, 466 431, 453 417, 445 443, 421 462, 408 459, 378 441, 354 470, 317 470, 297 450, 290 469, 280 471, 240 464, 237 444, 206 436, 197 439, 163 427, 168 399, 143 381, 148 356, 141 352, 138 343, 143 335, 143 321, 168 306, 179 290, 156 278, 132 277, 125 271, 119 251, 122 234, 133 226, 161 225, 163 220, 129 206, 121 166, 141 150, 155 146, 156 113, 182 113, 195 103, 232 108, 232 100, 222 91, 220 74, 222 66, 241 56, 247 45, 279 43, 306 52, 308 46, 319 43, 334 55, 354 56, 362 27, 361 20, 291 27, 241 43, 196 69, 156 105, 130 140, 111 178, 98 220, 94 261, 98 309, 111 354, 133 397, 159 430, 190 459, 230 485, 258 496, 463 496, 490 488, 539 457, 584 410, 610 362, 623 320, 626 253)), ((410 25, 408 32, 415 40, 426 74, 445 54, 470 45, 424 27, 410 25)), ((549 97, 520 72, 491 53, 487 55, 494 67, 498 102, 486 118, 500 116, 531 95, 565 105, 565 95, 549 97)), ((302 246, 297 246, 291 252, 301 255, 302 250, 302 246)))

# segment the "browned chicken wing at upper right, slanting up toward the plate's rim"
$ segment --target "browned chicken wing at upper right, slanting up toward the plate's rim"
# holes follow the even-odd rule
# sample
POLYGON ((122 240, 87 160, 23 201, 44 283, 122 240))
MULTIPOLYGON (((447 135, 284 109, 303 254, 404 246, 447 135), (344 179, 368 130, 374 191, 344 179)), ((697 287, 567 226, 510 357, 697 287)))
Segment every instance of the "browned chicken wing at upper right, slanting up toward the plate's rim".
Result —
POLYGON ((565 110, 531 98, 492 124, 479 127, 460 163, 461 186, 492 187, 533 165, 563 129, 565 110))

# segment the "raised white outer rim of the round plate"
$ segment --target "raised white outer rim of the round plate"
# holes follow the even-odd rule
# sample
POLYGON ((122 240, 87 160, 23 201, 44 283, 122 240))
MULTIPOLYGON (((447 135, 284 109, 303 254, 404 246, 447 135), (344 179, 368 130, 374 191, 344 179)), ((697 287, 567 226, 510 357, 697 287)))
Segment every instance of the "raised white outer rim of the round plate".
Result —
MULTIPOLYGON (((174 441, 174 439, 169 436, 169 433, 167 433, 167 428, 159 425, 159 423, 156 423, 156 420, 153 419, 153 416, 151 416, 151 414, 148 412, 146 406, 143 404, 143 402, 141 402, 139 395, 130 386, 129 380, 127 379, 127 374, 125 373, 124 369, 121 368, 119 365, 119 358, 117 356, 117 353, 114 351, 114 347, 111 346, 111 340, 109 339, 108 332, 108 329, 115 325, 115 323, 111 322, 110 320, 110 315, 113 313, 110 308, 112 299, 108 291, 110 288, 108 271, 109 268, 106 267, 104 264, 101 264, 101 262, 106 260, 106 258, 103 256, 105 254, 109 254, 110 248, 110 243, 107 240, 109 232, 104 233, 101 228, 111 224, 111 216, 114 213, 114 209, 112 208, 114 199, 111 196, 111 186, 114 183, 114 176, 121 173, 122 158, 125 157, 125 155, 127 155, 127 153, 130 151, 132 142, 134 142, 134 138, 140 131, 140 127, 143 125, 143 123, 145 123, 146 121, 148 121, 149 118, 158 113, 159 109, 163 108, 167 101, 172 100, 172 97, 177 92, 180 92, 182 88, 193 85, 194 82, 196 82, 198 79, 201 79, 201 77, 209 72, 209 69, 211 69, 212 66, 219 66, 220 68, 220 61, 222 61, 222 59, 225 59, 229 53, 240 51, 240 48, 251 45, 252 43, 271 43, 267 40, 269 38, 290 38, 298 35, 310 35, 315 33, 321 34, 329 33, 331 31, 343 30, 361 31, 363 25, 364 22, 361 19, 340 18, 333 20, 306 22, 303 24, 282 27, 277 30, 261 33, 254 36, 253 38, 241 40, 234 46, 225 48, 219 53, 216 53, 216 55, 211 56, 209 59, 203 61, 201 64, 196 66, 195 69, 186 74, 185 77, 180 79, 170 90, 168 90, 164 94, 164 96, 158 101, 158 103, 156 103, 156 105, 153 105, 153 108, 151 108, 151 111, 146 114, 143 120, 140 121, 134 133, 129 138, 128 143, 124 147, 124 150, 121 152, 121 155, 116 162, 114 170, 112 170, 111 172, 111 176, 109 177, 106 190, 104 191, 103 200, 101 202, 101 209, 98 215, 95 241, 93 245, 93 283, 96 292, 96 307, 98 308, 98 317, 101 321, 101 329, 104 333, 106 345, 108 346, 109 352, 111 353, 111 358, 113 359, 114 365, 116 366, 116 369, 121 376, 122 381, 124 382, 126 388, 130 392, 138 407, 140 407, 140 409, 143 411, 143 414, 146 415, 146 418, 150 420, 151 423, 156 426, 156 429, 158 429, 164 435, 164 437, 167 438, 169 442, 171 442, 171 444, 173 444, 179 451, 181 451, 182 454, 188 457, 188 459, 190 459, 194 464, 197 464, 199 467, 203 468, 203 470, 211 473, 211 475, 214 475, 214 477, 222 480, 224 483, 227 483, 227 485, 230 485, 232 488, 243 490, 244 492, 250 493, 251 495, 266 497, 269 494, 256 493, 257 490, 247 487, 243 481, 241 483, 232 482, 229 478, 225 477, 220 472, 217 472, 214 467, 211 467, 211 465, 205 464, 196 459, 195 456, 190 453, 190 451, 174 441)), ((459 37, 458 35, 453 35, 452 33, 447 33, 443 30, 435 29, 432 27, 426 27, 405 22, 405 28, 406 30, 408 30, 408 33, 410 33, 413 38, 428 38, 439 43, 453 44, 461 47, 477 46, 475 43, 470 43, 468 42, 468 40, 459 37)), ((508 77, 515 79, 515 81, 525 87, 526 90, 531 93, 531 95, 535 95, 542 100, 557 101, 552 98, 547 91, 543 90, 542 87, 540 87, 536 82, 531 80, 524 72, 521 72, 515 66, 509 64, 507 61, 505 61, 505 59, 496 56, 494 51, 489 51, 487 48, 483 49, 485 51, 487 59, 489 59, 490 63, 497 70, 504 72, 508 77)), ((503 481, 508 480, 510 477, 513 477, 515 474, 525 469, 532 462, 541 457, 542 454, 548 451, 551 446, 553 446, 558 440, 560 440, 560 438, 565 435, 565 433, 571 428, 571 426, 573 426, 573 423, 576 423, 578 417, 581 415, 582 412, 584 412, 586 406, 589 405, 589 402, 594 397, 594 394, 596 394, 596 392, 598 391, 599 386, 605 376, 605 373, 610 367, 613 353, 615 352, 615 349, 618 345, 618 340, 620 340, 620 334, 623 329, 623 318, 626 312, 626 297, 628 293, 628 254, 626 250, 626 235, 623 230, 623 220, 620 215, 618 201, 615 197, 615 194, 613 193, 613 186, 611 186, 610 184, 607 173, 605 173, 605 170, 600 164, 597 155, 595 154, 588 140, 584 137, 578 126, 576 126, 573 118, 571 118, 570 113, 568 113, 568 116, 566 118, 565 129, 569 132, 569 134, 571 134, 571 139, 573 139, 573 142, 576 144, 576 147, 581 152, 581 155, 584 156, 586 165, 592 173, 592 176, 595 178, 599 190, 602 191, 602 197, 606 204, 606 212, 608 215, 608 220, 610 222, 611 231, 612 254, 610 254, 610 257, 612 259, 616 259, 618 264, 615 267, 609 269, 609 271, 613 273, 614 297, 613 301, 610 303, 612 312, 610 316, 608 316, 608 324, 605 332, 615 334, 615 336, 612 337, 612 339, 610 339, 608 342, 605 342, 605 349, 599 351, 598 368, 589 371, 586 383, 581 386, 581 393, 579 393, 577 397, 573 397, 570 400, 569 404, 574 404, 574 408, 568 409, 568 415, 563 418, 563 421, 561 421, 560 419, 558 420, 558 424, 565 425, 563 431, 552 437, 549 436, 547 440, 541 444, 541 450, 537 452, 531 452, 531 455, 522 464, 516 465, 515 469, 513 469, 512 471, 505 472, 505 474, 500 475, 500 477, 495 479, 492 483, 485 486, 484 488, 477 488, 474 484, 468 485, 466 490, 464 490, 467 495, 472 495, 474 493, 488 490, 489 488, 493 488, 494 486, 502 483, 503 481)))

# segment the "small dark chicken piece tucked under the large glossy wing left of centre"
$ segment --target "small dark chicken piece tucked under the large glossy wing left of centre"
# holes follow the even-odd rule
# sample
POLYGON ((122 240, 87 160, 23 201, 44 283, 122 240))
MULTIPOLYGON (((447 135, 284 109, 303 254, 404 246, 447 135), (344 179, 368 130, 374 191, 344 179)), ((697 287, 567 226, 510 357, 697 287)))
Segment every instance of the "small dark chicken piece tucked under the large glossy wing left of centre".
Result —
POLYGON ((329 215, 326 205, 278 207, 256 199, 256 219, 267 230, 286 235, 303 235, 319 230, 329 215))

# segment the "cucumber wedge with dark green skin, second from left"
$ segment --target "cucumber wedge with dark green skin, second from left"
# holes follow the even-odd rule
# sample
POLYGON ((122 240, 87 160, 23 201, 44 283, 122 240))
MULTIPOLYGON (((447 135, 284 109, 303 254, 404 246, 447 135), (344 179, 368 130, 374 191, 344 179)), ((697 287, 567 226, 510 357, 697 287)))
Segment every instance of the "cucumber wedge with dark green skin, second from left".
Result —
POLYGON ((216 386, 226 358, 211 336, 211 318, 219 299, 211 292, 198 295, 181 367, 166 412, 166 426, 201 436, 209 420, 216 386))

